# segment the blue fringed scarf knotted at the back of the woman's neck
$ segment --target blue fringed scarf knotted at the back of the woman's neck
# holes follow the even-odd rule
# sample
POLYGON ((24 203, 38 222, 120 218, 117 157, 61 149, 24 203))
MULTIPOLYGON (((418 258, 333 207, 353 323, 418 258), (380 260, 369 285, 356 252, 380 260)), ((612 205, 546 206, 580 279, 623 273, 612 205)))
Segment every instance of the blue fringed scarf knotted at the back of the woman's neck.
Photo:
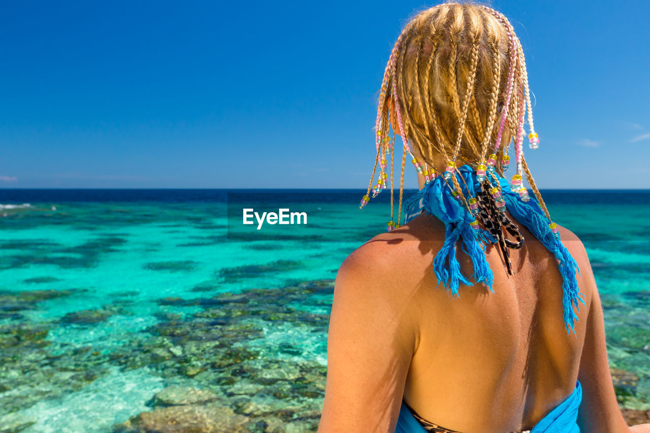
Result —
MULTIPOLYGON (((474 169, 465 164, 456 169, 454 174, 466 198, 476 196, 475 191, 480 190, 480 183, 476 179, 474 169)), ((510 184, 504 177, 497 173, 487 174, 488 179, 496 185, 500 185, 501 195, 506 202, 506 209, 510 212, 515 220, 523 224, 528 230, 539 239, 539 241, 556 257, 558 260, 558 269, 562 274, 562 304, 564 306, 564 322, 567 333, 573 330, 575 335, 574 324, 577 319, 573 306, 580 311, 579 302, 584 304, 584 299, 580 297, 576 272, 580 273, 578 265, 569 254, 569 251, 562 244, 560 239, 556 239, 554 233, 549 228, 551 221, 546 217, 541 209, 539 202, 534 195, 530 196, 530 201, 524 202, 517 192, 510 189, 510 184)), ((493 273, 489 269, 487 259, 484 254, 487 243, 496 243, 497 239, 486 230, 474 230, 469 225, 474 220, 474 216, 459 200, 451 195, 451 181, 445 181, 443 176, 436 176, 424 188, 414 194, 404 203, 404 215, 406 222, 419 215, 421 211, 426 211, 434 215, 445 224, 445 243, 441 250, 436 254, 433 262, 435 276, 438 284, 442 283, 445 290, 451 291, 452 295, 459 296, 458 287, 460 283, 473 285, 469 278, 476 283, 485 283, 492 289, 493 273), (460 272, 460 263, 456 258, 456 243, 462 241, 463 251, 471 258, 474 267, 474 273, 469 278, 463 276, 460 272)), ((584 295, 583 295, 584 296, 584 295)))

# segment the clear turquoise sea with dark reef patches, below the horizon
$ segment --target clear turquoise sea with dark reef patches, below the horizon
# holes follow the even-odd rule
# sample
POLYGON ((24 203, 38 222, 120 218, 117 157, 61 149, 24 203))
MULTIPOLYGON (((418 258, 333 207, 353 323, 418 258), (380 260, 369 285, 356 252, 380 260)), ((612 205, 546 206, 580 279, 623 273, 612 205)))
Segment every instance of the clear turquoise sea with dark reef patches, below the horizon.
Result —
MULTIPOLYGON (((0 432, 314 431, 332 279, 388 220, 361 195, 313 193, 278 239, 235 235, 224 191, 1 191, 0 432)), ((621 408, 648 410, 650 193, 545 198, 587 247, 621 408)))

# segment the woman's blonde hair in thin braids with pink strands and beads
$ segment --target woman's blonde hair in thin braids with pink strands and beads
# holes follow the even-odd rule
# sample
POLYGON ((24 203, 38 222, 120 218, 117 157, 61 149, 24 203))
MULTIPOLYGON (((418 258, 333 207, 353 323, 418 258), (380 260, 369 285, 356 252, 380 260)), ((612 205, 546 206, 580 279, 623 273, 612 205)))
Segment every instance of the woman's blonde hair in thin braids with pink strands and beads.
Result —
MULTIPOLYGON (((441 167, 434 165, 440 157, 447 161, 462 159, 476 166, 485 161, 488 151, 501 159, 513 142, 517 174, 525 172, 539 205, 551 219, 523 158, 526 111, 530 137, 537 137, 523 50, 512 25, 500 12, 472 3, 444 3, 415 15, 395 42, 380 89, 377 154, 368 187, 369 193, 377 165, 383 174, 387 154, 391 153, 392 220, 391 107, 405 143, 397 225, 406 153, 412 155, 408 144, 424 163, 441 173, 441 167)), ((499 164, 495 169, 503 174, 499 164)), ((456 176, 450 181, 450 187, 467 206, 456 176)))

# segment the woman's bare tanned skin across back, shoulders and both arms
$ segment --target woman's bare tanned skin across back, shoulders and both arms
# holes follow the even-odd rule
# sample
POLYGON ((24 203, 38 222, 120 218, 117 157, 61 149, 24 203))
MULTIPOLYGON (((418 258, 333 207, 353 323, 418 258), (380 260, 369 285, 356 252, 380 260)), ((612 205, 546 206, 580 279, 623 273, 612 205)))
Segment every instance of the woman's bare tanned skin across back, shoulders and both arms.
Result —
MULTIPOLYGON (((515 223, 516 224, 516 223, 515 223)), ((567 333, 558 262, 525 237, 508 276, 487 247, 486 286, 436 287, 432 261, 442 222, 420 215, 346 258, 337 273, 328 332, 328 378, 319 432, 393 432, 401 402, 426 421, 463 433, 530 430, 582 386, 581 431, 629 433, 618 408, 603 310, 584 246, 560 228, 580 268, 575 335, 567 333)), ((460 243, 461 272, 473 266, 460 243)), ((634 430, 646 431, 646 430, 634 430)))

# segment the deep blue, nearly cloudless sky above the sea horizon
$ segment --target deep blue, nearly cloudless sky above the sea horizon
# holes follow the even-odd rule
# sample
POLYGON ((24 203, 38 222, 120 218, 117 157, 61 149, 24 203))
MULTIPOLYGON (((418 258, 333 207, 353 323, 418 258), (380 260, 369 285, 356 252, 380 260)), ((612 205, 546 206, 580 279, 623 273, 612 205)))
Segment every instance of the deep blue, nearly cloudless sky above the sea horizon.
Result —
MULTIPOLYGON (((435 4, 4 1, 0 187, 365 189, 389 51, 435 4)), ((491 5, 525 49, 539 187, 650 188, 649 3, 491 5)))

